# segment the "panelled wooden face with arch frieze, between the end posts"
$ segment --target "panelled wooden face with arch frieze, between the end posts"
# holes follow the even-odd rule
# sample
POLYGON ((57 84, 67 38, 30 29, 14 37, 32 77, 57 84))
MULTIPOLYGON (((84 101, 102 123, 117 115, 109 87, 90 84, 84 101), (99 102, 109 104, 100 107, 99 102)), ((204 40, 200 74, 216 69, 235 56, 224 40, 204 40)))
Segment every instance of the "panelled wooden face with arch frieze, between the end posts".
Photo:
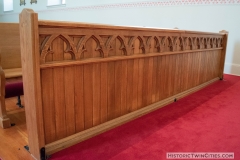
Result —
POLYGON ((214 34, 40 29, 46 144, 218 77, 222 43, 214 34))

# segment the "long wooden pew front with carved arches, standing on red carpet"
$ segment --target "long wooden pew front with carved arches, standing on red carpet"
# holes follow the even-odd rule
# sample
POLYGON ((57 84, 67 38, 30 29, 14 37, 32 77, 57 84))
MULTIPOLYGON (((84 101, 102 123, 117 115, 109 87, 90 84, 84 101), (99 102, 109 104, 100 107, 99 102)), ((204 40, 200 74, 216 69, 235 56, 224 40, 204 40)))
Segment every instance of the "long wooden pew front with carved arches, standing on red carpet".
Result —
POLYGON ((38 20, 20 14, 28 146, 36 159, 223 78, 227 32, 38 20))

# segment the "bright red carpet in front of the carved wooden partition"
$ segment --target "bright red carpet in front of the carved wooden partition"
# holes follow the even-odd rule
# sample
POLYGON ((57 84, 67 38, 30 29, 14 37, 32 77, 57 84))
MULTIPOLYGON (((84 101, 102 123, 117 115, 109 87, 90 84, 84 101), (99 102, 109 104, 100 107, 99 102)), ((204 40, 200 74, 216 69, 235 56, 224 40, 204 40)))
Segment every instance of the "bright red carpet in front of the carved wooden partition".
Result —
POLYGON ((240 76, 53 154, 50 160, 163 160, 167 152, 234 152, 240 160, 240 76))

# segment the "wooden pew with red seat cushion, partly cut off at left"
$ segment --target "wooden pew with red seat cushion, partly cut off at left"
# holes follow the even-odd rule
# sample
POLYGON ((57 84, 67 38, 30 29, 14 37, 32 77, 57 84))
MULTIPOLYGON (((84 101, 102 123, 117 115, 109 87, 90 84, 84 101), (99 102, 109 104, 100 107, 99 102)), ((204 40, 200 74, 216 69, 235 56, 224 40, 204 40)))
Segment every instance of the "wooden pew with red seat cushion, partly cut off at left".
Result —
POLYGON ((21 54, 18 23, 0 23, 0 126, 11 126, 5 107, 5 85, 21 80, 21 54))

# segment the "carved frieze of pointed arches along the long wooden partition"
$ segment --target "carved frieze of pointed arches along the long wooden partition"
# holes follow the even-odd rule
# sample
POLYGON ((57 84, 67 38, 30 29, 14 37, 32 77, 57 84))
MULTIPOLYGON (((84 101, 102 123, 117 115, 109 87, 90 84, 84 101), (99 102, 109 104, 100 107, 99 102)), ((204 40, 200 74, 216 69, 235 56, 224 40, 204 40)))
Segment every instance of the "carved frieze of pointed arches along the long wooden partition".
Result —
POLYGON ((219 37, 145 35, 40 35, 41 64, 222 47, 219 37))

